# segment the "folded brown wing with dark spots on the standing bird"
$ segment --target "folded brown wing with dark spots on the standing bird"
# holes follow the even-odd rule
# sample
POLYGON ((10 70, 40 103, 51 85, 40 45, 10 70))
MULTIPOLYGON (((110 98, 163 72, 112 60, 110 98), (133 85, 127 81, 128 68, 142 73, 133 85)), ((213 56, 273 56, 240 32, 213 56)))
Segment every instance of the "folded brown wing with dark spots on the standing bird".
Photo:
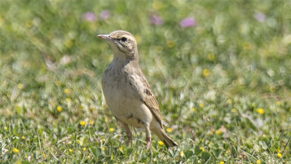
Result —
POLYGON ((146 104, 148 109, 159 121, 162 127, 162 115, 159 110, 158 102, 154 97, 144 74, 141 71, 138 71, 134 74, 131 74, 129 78, 132 79, 130 80, 130 82, 133 86, 136 87, 136 90, 138 91, 138 95, 140 96, 141 100, 146 104))

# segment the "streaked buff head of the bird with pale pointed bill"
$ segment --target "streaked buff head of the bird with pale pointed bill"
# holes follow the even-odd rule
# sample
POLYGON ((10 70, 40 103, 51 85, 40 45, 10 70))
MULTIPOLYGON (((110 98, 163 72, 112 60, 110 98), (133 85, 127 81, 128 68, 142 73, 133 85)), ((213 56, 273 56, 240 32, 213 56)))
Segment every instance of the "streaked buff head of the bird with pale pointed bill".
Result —
POLYGON ((111 46, 114 56, 130 60, 138 58, 137 45, 134 36, 126 31, 114 31, 110 34, 97 35, 105 39, 111 46))

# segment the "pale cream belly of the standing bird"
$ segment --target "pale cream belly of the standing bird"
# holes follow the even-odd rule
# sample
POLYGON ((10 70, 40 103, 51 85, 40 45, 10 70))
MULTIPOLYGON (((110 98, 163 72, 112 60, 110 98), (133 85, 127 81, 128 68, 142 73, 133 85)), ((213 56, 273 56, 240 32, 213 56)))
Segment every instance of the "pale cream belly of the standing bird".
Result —
POLYGON ((133 127, 144 127, 144 123, 152 120, 150 110, 124 76, 104 76, 102 88, 109 110, 120 121, 133 127))

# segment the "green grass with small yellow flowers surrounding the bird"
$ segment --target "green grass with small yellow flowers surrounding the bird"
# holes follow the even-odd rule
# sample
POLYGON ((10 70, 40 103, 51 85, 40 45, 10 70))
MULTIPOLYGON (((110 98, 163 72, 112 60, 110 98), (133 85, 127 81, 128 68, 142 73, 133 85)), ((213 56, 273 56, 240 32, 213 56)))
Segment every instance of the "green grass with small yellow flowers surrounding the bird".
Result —
POLYGON ((0 4, 0 163, 291 163, 290 1, 0 4), (187 16, 195 27, 179 25, 187 16), (153 135, 147 151, 134 129, 125 146, 101 90, 112 51, 96 35, 114 30, 137 38, 179 147, 153 135))

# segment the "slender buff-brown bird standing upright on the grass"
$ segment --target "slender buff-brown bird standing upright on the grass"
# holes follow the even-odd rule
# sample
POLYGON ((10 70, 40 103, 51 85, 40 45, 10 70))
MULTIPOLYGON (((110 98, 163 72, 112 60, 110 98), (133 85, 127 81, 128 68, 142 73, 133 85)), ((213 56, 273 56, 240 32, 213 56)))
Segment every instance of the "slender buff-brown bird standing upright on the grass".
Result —
POLYGON ((139 66, 137 43, 127 31, 97 35, 106 40, 113 51, 113 60, 102 75, 102 90, 109 110, 128 137, 129 126, 146 131, 146 149, 150 148, 151 131, 167 148, 178 146, 164 131, 162 115, 153 92, 139 66))

